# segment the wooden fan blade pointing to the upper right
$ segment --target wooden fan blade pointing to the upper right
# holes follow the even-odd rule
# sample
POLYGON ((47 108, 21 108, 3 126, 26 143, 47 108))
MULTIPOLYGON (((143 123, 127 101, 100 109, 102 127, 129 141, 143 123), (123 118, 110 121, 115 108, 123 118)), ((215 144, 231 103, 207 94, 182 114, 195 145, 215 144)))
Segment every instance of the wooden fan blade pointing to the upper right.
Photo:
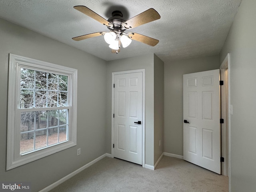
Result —
POLYGON ((138 27, 140 25, 146 24, 148 22, 152 22, 154 20, 160 19, 160 15, 156 10, 150 8, 141 14, 136 15, 135 17, 129 19, 128 21, 124 22, 124 27, 126 29, 132 29, 138 27))

